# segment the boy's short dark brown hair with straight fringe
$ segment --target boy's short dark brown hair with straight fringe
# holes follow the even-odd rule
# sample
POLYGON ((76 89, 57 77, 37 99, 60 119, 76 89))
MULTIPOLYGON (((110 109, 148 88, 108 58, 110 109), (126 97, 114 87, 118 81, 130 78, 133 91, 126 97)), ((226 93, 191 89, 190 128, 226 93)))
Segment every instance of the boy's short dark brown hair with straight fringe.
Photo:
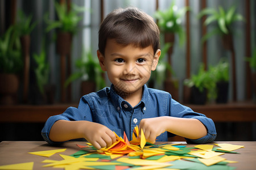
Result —
POLYGON ((152 45, 154 54, 159 49, 159 29, 151 16, 135 7, 119 8, 109 13, 98 32, 98 48, 105 54, 106 41, 146 48, 152 45))

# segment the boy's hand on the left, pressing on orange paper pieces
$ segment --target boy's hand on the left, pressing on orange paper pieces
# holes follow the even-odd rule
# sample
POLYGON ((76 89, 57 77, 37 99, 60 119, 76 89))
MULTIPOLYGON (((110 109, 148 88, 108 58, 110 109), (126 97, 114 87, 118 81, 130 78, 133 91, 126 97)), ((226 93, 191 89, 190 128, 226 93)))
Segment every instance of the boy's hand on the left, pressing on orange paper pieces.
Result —
POLYGON ((95 122, 87 122, 82 128, 85 139, 99 150, 102 147, 109 147, 116 141, 112 130, 104 125, 95 122))

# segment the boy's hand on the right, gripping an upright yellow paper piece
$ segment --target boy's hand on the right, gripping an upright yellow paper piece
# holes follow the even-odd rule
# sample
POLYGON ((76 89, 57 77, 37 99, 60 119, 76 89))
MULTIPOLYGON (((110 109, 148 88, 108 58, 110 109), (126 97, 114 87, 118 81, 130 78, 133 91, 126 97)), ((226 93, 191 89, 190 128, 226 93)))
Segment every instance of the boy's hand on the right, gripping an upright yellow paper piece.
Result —
POLYGON ((155 143, 156 137, 166 131, 164 117, 143 118, 139 123, 139 137, 141 137, 141 129, 146 140, 150 143, 155 143))

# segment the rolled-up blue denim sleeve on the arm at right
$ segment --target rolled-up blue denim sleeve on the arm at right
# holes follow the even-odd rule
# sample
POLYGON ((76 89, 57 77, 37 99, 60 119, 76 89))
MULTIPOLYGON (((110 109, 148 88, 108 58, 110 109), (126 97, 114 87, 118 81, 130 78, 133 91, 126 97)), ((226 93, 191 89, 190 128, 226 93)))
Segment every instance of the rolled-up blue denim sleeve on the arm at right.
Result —
POLYGON ((202 124, 204 124, 205 128, 207 128, 207 135, 199 139, 187 139, 189 143, 211 143, 216 139, 217 133, 214 122, 212 119, 206 117, 204 114, 196 113, 191 108, 186 107, 174 99, 171 99, 170 109, 171 116, 173 117, 181 117, 181 118, 196 118, 202 124))

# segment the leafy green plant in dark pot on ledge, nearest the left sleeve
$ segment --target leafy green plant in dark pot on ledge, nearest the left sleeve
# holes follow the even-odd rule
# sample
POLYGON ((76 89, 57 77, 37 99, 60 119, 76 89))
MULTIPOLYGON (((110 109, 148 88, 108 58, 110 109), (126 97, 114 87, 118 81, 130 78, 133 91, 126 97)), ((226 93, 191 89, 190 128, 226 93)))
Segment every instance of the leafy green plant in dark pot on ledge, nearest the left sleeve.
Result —
POLYGON ((35 68, 36 78, 36 97, 35 104, 53 104, 55 95, 55 86, 49 84, 49 63, 46 58, 46 51, 44 48, 41 49, 40 54, 33 54, 33 58, 36 62, 37 67, 35 68), (38 93, 39 91, 39 93, 38 93))

